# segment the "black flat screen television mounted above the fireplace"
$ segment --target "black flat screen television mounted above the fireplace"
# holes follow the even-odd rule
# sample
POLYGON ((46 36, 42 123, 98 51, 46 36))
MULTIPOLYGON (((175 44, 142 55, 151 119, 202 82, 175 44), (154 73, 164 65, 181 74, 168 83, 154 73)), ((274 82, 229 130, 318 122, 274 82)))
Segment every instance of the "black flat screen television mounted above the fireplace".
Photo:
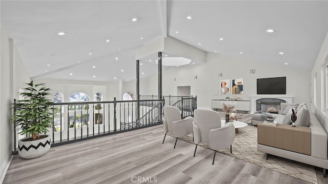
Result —
POLYGON ((286 94, 286 77, 258 78, 257 94, 286 94))

